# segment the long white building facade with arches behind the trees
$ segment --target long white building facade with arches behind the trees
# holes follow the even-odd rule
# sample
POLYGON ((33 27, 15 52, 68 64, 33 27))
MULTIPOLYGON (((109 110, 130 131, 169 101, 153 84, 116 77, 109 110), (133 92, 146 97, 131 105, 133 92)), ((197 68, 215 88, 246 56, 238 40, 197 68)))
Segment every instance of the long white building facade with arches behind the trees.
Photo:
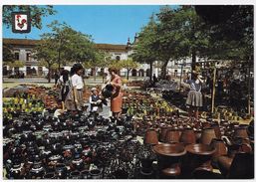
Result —
MULTIPOLYGON (((137 35, 135 35, 132 43, 127 45, 114 45, 114 44, 96 44, 96 48, 107 52, 111 55, 113 60, 127 60, 128 56, 133 53, 132 46, 138 41, 137 35)), ((3 46, 9 46, 12 48, 12 52, 15 55, 16 61, 21 61, 24 67, 10 68, 7 65, 3 65, 3 76, 9 76, 15 74, 18 71, 24 73, 26 77, 46 77, 48 69, 39 65, 39 62, 32 57, 33 49, 36 45, 40 44, 40 40, 29 39, 3 39, 3 46)), ((191 60, 182 60, 177 62, 169 62, 167 65, 167 74, 171 77, 180 77, 181 73, 186 74, 190 70, 191 60)), ((70 69, 71 66, 66 66, 64 69, 70 69)), ((133 69, 129 72, 130 77, 149 77, 150 70, 148 64, 140 64, 137 69, 133 69)), ((107 68, 105 72, 107 72, 107 68)), ((101 75, 103 71, 97 70, 97 75, 101 75)), ((160 75, 160 67, 157 61, 154 62, 152 73, 157 76, 160 75)), ((93 70, 89 69, 87 75, 92 75, 93 70)), ((127 76, 127 70, 121 70, 121 76, 127 76)))

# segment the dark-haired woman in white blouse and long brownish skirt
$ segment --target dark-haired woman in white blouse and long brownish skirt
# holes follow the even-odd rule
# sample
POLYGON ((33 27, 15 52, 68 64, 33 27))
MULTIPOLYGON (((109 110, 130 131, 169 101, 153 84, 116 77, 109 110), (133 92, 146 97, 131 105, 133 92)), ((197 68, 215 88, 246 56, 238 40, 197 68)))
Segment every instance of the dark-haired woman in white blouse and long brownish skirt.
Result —
POLYGON ((82 110, 84 107, 83 91, 85 84, 83 72, 84 68, 81 64, 75 64, 71 68, 72 91, 70 91, 68 98, 71 110, 82 110))

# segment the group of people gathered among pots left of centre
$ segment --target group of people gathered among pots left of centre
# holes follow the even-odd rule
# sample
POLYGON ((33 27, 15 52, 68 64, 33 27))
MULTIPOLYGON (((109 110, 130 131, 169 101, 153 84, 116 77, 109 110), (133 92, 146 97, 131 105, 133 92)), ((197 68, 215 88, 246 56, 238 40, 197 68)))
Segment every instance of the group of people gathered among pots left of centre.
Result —
MULTIPOLYGON (((83 73, 83 66, 81 64, 75 64, 70 71, 63 70, 60 77, 56 77, 55 86, 59 89, 62 110, 84 111, 87 108, 83 97, 85 90, 83 73)), ((89 98, 90 110, 101 111, 103 104, 107 104, 107 99, 110 99, 113 116, 119 117, 122 112, 123 88, 122 79, 118 75, 118 70, 109 69, 109 79, 107 79, 103 88, 108 88, 106 86, 113 88, 112 93, 108 96, 97 88, 91 90, 91 96, 89 98)))

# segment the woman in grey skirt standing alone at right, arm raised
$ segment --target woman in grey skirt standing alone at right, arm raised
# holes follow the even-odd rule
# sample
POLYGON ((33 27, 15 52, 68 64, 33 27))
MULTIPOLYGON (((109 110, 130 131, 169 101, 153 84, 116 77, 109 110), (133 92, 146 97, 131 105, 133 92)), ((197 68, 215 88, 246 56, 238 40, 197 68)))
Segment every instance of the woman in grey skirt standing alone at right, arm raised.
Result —
POLYGON ((186 104, 188 105, 188 116, 191 119, 192 116, 198 119, 199 107, 202 106, 202 80, 198 73, 193 72, 191 74, 191 80, 188 78, 183 80, 184 83, 190 85, 190 91, 187 94, 186 104))

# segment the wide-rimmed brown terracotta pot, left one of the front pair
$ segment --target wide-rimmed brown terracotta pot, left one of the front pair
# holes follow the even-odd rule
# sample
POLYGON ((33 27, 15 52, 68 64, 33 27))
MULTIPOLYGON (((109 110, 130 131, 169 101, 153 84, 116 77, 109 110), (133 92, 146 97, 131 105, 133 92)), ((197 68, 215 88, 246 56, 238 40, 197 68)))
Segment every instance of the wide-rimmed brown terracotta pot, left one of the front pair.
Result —
POLYGON ((162 178, 180 175, 180 159, 186 150, 181 143, 158 144, 153 146, 157 156, 158 170, 162 178))

